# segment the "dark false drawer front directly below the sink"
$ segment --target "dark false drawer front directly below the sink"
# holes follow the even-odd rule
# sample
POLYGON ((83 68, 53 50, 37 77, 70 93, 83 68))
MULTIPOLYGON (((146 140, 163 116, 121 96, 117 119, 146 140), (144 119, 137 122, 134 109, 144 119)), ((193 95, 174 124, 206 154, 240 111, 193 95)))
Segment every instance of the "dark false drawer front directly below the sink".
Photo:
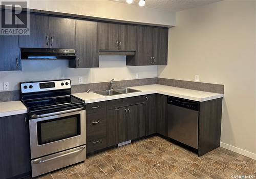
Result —
POLYGON ((130 98, 121 98, 116 100, 111 100, 106 102, 107 109, 114 109, 117 107, 125 107, 136 104, 145 103, 145 96, 136 96, 130 98))

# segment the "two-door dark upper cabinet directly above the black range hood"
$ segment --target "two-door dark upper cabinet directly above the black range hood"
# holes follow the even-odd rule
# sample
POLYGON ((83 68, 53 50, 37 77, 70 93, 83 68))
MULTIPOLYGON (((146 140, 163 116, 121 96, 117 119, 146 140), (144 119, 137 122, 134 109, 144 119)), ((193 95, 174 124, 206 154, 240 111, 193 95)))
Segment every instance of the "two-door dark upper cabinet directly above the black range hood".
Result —
POLYGON ((19 36, 21 48, 75 49, 75 19, 30 15, 30 35, 19 36))

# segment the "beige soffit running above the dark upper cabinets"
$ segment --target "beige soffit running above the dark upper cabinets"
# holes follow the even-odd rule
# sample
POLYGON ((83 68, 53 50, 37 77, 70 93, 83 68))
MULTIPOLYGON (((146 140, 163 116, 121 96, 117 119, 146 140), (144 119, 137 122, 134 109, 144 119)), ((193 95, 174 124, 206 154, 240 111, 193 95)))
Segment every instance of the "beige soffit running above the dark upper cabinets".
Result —
POLYGON ((176 15, 107 0, 29 0, 29 8, 167 26, 175 25, 176 15))

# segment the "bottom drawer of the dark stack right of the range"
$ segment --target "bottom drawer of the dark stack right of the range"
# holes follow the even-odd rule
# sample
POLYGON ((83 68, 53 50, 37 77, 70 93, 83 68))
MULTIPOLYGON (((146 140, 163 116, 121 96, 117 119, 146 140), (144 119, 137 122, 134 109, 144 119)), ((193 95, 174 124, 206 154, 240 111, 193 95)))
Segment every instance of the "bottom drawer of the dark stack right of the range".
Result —
POLYGON ((93 137, 87 139, 86 149, 87 153, 106 148, 106 135, 101 135, 98 137, 93 137))

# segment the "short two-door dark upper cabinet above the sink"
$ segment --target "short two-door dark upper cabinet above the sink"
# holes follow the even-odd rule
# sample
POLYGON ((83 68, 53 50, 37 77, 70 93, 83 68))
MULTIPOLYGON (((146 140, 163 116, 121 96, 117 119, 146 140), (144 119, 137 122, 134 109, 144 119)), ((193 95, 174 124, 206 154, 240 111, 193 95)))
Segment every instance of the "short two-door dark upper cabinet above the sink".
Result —
POLYGON ((135 51, 137 27, 112 23, 98 23, 99 50, 135 51))

